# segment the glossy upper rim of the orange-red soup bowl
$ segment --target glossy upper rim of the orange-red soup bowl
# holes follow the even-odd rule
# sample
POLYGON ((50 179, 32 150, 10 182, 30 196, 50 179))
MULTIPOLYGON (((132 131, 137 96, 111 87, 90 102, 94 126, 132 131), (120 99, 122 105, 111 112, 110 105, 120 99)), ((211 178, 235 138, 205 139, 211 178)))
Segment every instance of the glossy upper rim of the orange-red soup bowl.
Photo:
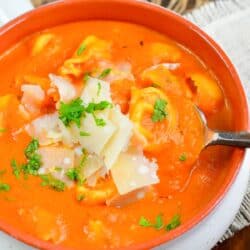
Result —
MULTIPOLYGON (((66 7, 67 5, 79 3, 79 2, 95 2, 100 3, 103 0, 59 0, 53 3, 49 3, 47 5, 41 6, 39 8, 33 9, 14 20, 8 22, 4 26, 0 27, 0 39, 1 35, 4 34, 7 31, 11 31, 11 29, 15 26, 18 26, 21 24, 24 20, 29 19, 32 16, 37 15, 38 13, 44 12, 46 13, 49 9, 56 9, 59 6, 66 7)), ((244 89, 244 86, 242 85, 240 78, 238 76, 238 73, 236 72, 235 67, 233 66, 231 60, 228 58, 228 56, 225 54, 223 49, 209 36, 207 35, 203 30, 201 30, 198 26, 193 24, 192 22, 188 21, 184 17, 164 8, 159 5, 143 1, 143 0, 106 0, 106 4, 110 3, 119 3, 124 5, 131 5, 135 8, 145 8, 147 11, 155 11, 158 12, 158 14, 168 15, 170 18, 173 18, 175 20, 178 20, 178 22, 181 23, 181 25, 185 26, 187 29, 192 29, 193 32, 197 33, 201 38, 203 38, 204 42, 206 42, 210 47, 213 48, 213 50, 220 56, 220 59, 225 63, 228 72, 230 73, 234 83, 238 87, 238 91, 241 93, 241 96, 244 98, 244 106, 243 106, 243 112, 244 112, 244 126, 245 129, 249 130, 249 110, 248 110, 248 101, 246 98, 246 91, 244 89)), ((108 19, 107 19, 108 20, 108 19)), ((77 21, 77 20, 75 20, 77 21)), ((121 21, 118 20, 117 21, 121 21)), ((152 29, 152 28, 151 28, 152 29)), ((148 249, 152 247, 159 246, 163 243, 166 243, 168 241, 176 239, 178 236, 183 235, 184 233, 188 232, 189 230, 193 229, 195 226, 197 226, 199 223, 201 223, 216 207, 217 205, 222 201, 222 199, 227 194, 228 190, 234 183, 239 170, 241 168, 242 162, 246 156, 246 151, 243 149, 237 149, 238 153, 238 162, 235 166, 235 170, 232 171, 233 173, 227 177, 223 187, 220 189, 220 191, 208 202, 208 204, 195 216, 193 216, 190 220, 188 220, 185 224, 179 226, 173 231, 166 232, 166 234, 158 236, 156 238, 153 238, 151 240, 147 240, 144 243, 138 243, 134 244, 133 246, 122 248, 122 249, 148 249)), ((22 232, 20 230, 17 230, 13 226, 9 225, 8 223, 5 223, 3 221, 0 221, 0 229, 6 232, 7 234, 11 235, 12 237, 21 240, 31 246, 34 247, 40 247, 43 249, 55 249, 55 250, 68 250, 72 248, 68 247, 62 247, 62 246, 55 246, 52 243, 48 243, 42 240, 39 240, 38 238, 29 235, 28 233, 22 232)))

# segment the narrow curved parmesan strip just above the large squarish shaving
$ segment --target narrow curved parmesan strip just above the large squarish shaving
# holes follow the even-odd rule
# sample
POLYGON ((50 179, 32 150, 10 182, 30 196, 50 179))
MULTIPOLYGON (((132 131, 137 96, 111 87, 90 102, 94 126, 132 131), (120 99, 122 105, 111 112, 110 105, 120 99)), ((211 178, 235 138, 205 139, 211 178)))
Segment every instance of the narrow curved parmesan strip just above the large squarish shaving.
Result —
POLYGON ((133 129, 132 122, 121 113, 118 106, 110 111, 110 120, 117 130, 102 151, 107 169, 112 168, 119 154, 128 147, 133 129))

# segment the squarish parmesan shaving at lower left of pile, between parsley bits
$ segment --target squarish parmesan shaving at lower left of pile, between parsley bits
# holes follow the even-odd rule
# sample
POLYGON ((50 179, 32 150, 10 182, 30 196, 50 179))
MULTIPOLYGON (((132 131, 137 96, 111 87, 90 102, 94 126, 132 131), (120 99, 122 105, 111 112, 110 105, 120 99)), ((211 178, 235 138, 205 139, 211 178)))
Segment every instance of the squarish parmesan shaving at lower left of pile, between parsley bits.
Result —
POLYGON ((68 186, 73 182, 65 175, 68 169, 74 167, 74 151, 63 147, 41 147, 38 154, 42 157, 42 167, 39 174, 51 174, 68 186))

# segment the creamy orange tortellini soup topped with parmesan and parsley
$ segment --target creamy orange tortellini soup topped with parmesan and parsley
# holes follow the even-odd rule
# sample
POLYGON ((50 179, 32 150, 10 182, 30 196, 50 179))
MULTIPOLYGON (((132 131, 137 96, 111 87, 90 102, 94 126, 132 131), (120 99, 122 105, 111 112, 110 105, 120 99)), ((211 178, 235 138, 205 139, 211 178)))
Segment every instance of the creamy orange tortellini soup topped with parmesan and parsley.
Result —
POLYGON ((232 128, 212 72, 166 36, 84 21, 0 56, 0 220, 58 246, 129 247, 167 234, 218 193, 232 128), (201 154, 200 154, 201 152, 201 154))

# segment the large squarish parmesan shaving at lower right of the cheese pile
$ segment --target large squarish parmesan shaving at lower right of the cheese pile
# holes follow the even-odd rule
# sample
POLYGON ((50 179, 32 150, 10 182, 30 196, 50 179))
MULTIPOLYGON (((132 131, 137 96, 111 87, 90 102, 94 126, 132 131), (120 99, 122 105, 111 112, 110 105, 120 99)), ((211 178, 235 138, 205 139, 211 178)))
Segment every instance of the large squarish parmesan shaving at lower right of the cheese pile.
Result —
POLYGON ((119 194, 123 195, 158 183, 156 171, 157 164, 149 161, 143 154, 121 153, 111 169, 111 174, 119 194))

